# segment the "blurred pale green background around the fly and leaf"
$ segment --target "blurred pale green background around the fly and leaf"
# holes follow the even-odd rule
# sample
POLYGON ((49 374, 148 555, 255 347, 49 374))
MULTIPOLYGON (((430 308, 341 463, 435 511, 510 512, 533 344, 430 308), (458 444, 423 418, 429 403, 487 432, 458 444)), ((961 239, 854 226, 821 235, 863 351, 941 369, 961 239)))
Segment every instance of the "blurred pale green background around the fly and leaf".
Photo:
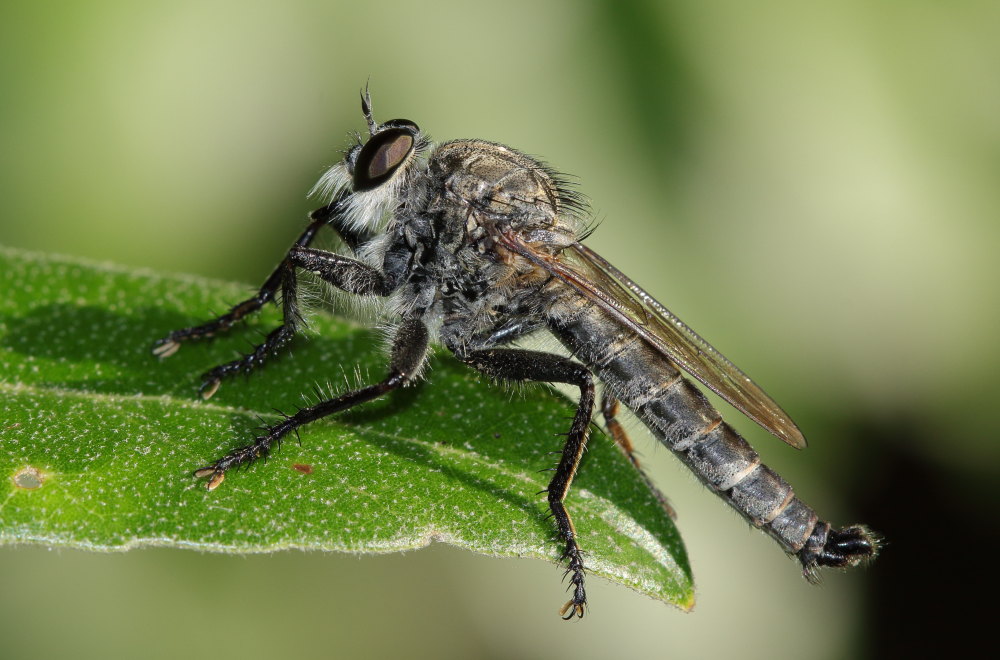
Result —
POLYGON ((963 603, 990 557, 967 557, 997 540, 998 29, 988 1, 3 3, 0 244, 259 283, 363 129, 370 78, 381 120, 578 177, 602 220, 589 244, 811 444, 730 419, 821 515, 890 545, 812 587, 635 428, 679 511, 692 614, 594 579, 589 616, 566 624, 557 567, 447 547, 2 548, 0 657, 749 660, 969 642, 985 614, 963 603))

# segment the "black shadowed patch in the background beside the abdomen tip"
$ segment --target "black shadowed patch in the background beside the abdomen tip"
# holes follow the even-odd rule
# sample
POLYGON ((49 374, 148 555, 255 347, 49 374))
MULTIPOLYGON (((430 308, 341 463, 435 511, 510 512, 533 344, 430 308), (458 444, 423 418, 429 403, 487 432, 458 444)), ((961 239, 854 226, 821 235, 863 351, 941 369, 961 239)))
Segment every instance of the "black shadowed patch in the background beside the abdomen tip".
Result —
POLYGON ((873 478, 856 484, 851 508, 886 540, 865 574, 863 648, 872 658, 995 648, 996 482, 909 451, 923 444, 917 421, 861 420, 856 432, 868 439, 873 478))

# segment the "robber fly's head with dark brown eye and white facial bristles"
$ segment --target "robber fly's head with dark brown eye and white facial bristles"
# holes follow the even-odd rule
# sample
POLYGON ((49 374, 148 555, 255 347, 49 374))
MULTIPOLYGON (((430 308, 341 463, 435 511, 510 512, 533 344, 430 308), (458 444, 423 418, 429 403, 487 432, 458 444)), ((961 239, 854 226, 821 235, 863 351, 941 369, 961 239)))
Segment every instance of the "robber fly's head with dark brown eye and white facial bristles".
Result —
POLYGON ((426 167, 420 156, 430 143, 409 119, 376 122, 367 90, 361 96, 361 111, 368 122, 368 138, 357 135, 344 159, 327 170, 309 194, 325 202, 343 198, 352 229, 380 232, 407 196, 413 175, 426 167))

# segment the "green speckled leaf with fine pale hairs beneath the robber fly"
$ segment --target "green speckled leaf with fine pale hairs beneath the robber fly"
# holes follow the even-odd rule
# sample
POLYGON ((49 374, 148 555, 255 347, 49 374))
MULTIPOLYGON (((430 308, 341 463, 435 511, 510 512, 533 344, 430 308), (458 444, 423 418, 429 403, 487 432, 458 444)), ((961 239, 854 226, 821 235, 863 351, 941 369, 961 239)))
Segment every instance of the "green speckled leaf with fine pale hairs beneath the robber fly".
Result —
MULTIPOLYGON (((247 287, 0 249, 0 291, 0 543, 374 553, 444 541, 558 560, 539 491, 572 404, 547 388, 497 387, 439 352, 424 382, 308 425, 301 445, 208 491, 192 470, 275 409, 314 401, 317 384, 381 378, 378 333, 317 313, 286 354, 203 402, 199 375, 259 341, 277 312, 162 361, 151 343, 247 287)), ((600 433, 568 506, 591 574, 692 605, 676 528, 600 433)))

